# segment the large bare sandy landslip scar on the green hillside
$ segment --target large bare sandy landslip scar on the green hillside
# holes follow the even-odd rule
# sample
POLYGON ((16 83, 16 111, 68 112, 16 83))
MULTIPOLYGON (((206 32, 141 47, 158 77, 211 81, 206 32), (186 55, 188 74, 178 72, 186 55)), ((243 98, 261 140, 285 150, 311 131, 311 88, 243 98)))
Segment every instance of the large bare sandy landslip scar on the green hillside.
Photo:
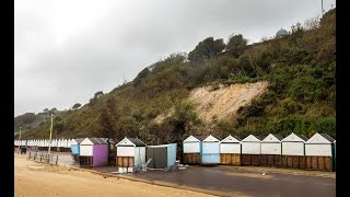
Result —
POLYGON ((252 100, 261 95, 267 89, 268 82, 220 85, 220 89, 212 90, 212 86, 198 88, 191 91, 189 99, 197 103, 199 117, 209 123, 213 116, 218 119, 234 118, 241 106, 248 105, 252 100))

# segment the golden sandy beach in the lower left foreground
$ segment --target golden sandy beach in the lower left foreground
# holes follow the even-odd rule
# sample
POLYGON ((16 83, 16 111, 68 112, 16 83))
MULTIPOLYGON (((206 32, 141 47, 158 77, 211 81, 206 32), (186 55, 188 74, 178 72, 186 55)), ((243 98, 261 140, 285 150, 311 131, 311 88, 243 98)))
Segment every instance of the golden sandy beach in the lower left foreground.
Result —
POLYGON ((14 196, 210 196, 201 193, 104 177, 28 161, 14 154, 14 196))

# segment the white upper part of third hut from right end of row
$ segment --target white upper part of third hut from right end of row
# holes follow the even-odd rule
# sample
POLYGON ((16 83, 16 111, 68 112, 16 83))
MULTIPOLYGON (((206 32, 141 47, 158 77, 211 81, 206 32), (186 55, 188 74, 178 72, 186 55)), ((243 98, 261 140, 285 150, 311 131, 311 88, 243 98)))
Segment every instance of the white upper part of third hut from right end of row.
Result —
POLYGON ((269 134, 261 141, 261 154, 281 154, 282 139, 283 137, 280 135, 269 134))

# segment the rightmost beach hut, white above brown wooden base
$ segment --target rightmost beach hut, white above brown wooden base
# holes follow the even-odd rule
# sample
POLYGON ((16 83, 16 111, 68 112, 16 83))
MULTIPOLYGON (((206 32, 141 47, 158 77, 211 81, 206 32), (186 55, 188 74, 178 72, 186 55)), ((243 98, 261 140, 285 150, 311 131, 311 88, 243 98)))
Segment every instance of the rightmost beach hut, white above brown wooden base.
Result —
POLYGON ((334 141, 327 134, 316 132, 305 142, 307 170, 334 171, 334 141))

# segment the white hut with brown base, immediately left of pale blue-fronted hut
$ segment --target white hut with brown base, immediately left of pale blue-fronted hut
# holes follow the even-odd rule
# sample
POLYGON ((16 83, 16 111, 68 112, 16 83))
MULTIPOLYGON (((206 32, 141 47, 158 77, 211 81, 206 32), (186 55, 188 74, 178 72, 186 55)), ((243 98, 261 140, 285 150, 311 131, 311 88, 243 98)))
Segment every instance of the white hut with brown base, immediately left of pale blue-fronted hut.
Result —
POLYGON ((183 162, 186 164, 199 164, 201 142, 194 136, 189 136, 183 141, 183 162))

